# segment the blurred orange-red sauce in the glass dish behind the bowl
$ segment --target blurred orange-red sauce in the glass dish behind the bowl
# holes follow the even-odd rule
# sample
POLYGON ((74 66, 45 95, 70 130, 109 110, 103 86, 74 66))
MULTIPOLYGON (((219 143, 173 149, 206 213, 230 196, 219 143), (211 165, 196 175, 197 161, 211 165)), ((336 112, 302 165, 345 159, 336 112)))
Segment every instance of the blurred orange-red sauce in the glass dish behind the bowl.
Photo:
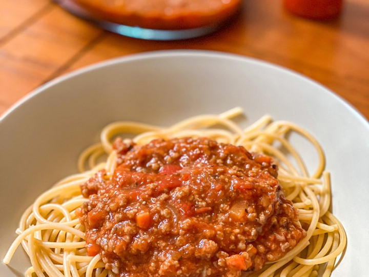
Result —
POLYGON ((73 0, 94 15, 118 24, 149 29, 191 29, 232 16, 241 0, 73 0))

